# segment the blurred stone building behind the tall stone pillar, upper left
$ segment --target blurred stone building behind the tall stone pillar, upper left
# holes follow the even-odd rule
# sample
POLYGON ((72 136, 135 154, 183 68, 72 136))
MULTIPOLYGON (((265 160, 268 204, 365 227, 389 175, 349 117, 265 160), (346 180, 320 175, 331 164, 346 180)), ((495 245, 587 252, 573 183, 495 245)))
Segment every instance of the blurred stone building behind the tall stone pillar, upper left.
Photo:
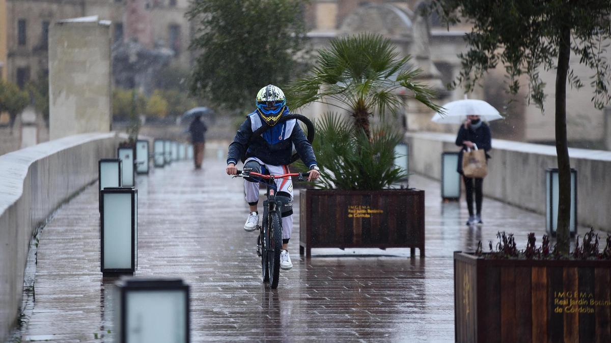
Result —
POLYGON ((3 1, 7 3, 7 78, 18 85, 48 71, 49 26, 57 20, 81 16, 111 20, 115 42, 137 38, 146 46, 172 49, 176 63, 191 62, 187 50, 190 29, 184 16, 188 0, 3 1), (144 10, 130 10, 134 7, 144 10))

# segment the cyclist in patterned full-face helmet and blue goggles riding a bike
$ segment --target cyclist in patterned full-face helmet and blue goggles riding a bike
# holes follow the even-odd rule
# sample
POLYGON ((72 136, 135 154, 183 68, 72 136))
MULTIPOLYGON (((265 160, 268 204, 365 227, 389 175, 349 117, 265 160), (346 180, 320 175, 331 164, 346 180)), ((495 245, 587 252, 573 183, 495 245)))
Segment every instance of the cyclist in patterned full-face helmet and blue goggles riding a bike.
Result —
MULTIPOLYGON (((244 170, 257 173, 282 175, 288 173, 287 164, 293 154, 293 146, 301 160, 310 168, 309 180, 315 180, 320 175, 316 156, 312 145, 305 138, 296 119, 278 123, 280 117, 288 115, 289 110, 284 92, 274 85, 267 85, 257 93, 255 101, 257 109, 248 115, 236 132, 233 142, 229 145, 227 156, 228 175, 236 175, 238 159, 246 153, 244 170), (254 137, 250 145, 252 132, 267 123, 267 129, 260 137, 254 137), (248 145, 248 146, 247 146, 248 145), (246 150, 246 151, 244 151, 246 150)), ((293 230, 293 182, 290 178, 276 180, 278 187, 276 199, 282 201, 282 251, 280 252, 280 268, 288 270, 293 263, 288 255, 288 240, 293 230)), ((250 206, 250 213, 244 224, 244 230, 251 232, 257 229, 259 214, 259 184, 251 178, 244 178, 244 192, 250 206)))

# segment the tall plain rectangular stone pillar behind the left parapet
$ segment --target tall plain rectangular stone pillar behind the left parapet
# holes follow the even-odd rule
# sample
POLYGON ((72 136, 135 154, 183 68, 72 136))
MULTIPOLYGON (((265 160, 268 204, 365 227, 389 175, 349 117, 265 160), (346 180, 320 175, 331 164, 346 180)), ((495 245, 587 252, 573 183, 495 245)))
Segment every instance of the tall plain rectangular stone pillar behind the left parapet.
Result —
POLYGON ((111 26, 97 16, 49 29, 49 139, 111 128, 111 26))

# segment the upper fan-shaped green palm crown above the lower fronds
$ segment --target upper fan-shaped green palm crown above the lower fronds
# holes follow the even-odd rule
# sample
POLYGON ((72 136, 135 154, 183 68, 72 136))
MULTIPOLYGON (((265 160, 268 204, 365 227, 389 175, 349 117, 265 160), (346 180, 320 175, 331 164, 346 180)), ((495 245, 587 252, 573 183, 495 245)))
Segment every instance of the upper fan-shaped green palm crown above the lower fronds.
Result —
POLYGON ((439 111, 431 101, 434 90, 415 80, 420 70, 409 68, 410 57, 398 58, 390 39, 376 34, 336 38, 331 47, 318 53, 316 67, 305 78, 291 83, 287 99, 293 109, 309 103, 331 104, 348 111, 354 126, 371 139, 369 120, 375 110, 382 118, 400 109, 399 91, 439 111), (334 100, 329 103, 329 100, 334 100))

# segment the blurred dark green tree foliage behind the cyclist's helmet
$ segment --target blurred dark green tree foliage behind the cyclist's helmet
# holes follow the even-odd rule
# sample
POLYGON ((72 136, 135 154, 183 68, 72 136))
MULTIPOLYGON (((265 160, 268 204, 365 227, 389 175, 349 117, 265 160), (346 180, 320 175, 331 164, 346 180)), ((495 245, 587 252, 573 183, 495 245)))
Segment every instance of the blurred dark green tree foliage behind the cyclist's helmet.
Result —
POLYGON ((196 54, 189 89, 216 107, 239 112, 265 85, 279 87, 309 65, 303 0, 191 1, 196 54))

